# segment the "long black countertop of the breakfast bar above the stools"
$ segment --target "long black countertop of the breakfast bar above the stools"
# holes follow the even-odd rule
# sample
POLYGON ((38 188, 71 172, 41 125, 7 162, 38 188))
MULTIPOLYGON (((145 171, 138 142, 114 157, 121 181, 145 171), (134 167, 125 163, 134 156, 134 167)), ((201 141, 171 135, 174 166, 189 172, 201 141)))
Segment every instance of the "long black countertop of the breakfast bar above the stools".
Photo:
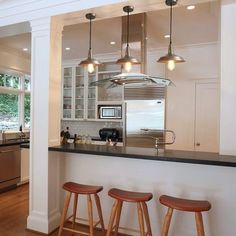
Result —
POLYGON ((84 153, 92 155, 116 156, 122 158, 170 161, 191 164, 236 167, 236 156, 219 155, 209 152, 165 150, 157 152, 154 148, 117 147, 93 144, 65 144, 49 147, 50 151, 84 153))

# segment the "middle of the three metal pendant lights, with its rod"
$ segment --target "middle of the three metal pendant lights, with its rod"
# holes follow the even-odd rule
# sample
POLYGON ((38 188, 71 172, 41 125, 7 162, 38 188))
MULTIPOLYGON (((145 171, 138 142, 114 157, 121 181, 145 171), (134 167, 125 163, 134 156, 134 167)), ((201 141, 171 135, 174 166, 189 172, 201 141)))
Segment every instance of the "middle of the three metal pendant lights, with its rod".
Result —
POLYGON ((120 59, 118 59, 116 61, 117 64, 120 64, 120 65, 123 66, 123 68, 124 68, 124 70, 126 72, 130 72, 131 71, 132 65, 140 64, 140 62, 136 58, 130 56, 130 47, 129 47, 129 14, 133 10, 134 10, 134 8, 132 6, 125 6, 125 7, 123 7, 123 11, 127 13, 127 27, 126 27, 126 29, 127 29, 127 34, 126 34, 127 38, 126 38, 125 56, 120 58, 120 59))

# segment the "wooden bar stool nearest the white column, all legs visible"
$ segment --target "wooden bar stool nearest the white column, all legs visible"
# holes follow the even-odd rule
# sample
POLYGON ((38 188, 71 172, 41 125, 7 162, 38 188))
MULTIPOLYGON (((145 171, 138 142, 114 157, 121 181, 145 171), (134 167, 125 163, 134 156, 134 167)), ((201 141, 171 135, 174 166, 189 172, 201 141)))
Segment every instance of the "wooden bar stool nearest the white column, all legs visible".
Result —
POLYGON ((60 228, 58 232, 58 236, 61 236, 62 230, 67 230, 73 233, 81 233, 85 235, 90 235, 93 236, 93 228, 96 227, 99 223, 101 225, 102 231, 105 234, 105 227, 104 227, 104 222, 103 222, 103 217, 102 217, 102 209, 101 209, 101 204, 100 204, 100 199, 97 193, 102 191, 103 187, 102 186, 91 186, 91 185, 83 185, 83 184, 77 184, 73 182, 67 182, 63 185, 63 189, 65 189, 68 194, 65 198, 64 201, 64 208, 63 208, 63 213, 61 216, 61 223, 60 223, 60 228), (74 193, 74 206, 73 206, 73 214, 66 219, 67 215, 67 210, 69 207, 71 195, 74 193), (78 196, 79 194, 81 195, 87 195, 87 204, 88 204, 88 221, 89 221, 89 233, 87 232, 82 232, 75 230, 75 219, 76 217, 76 210, 77 210, 77 203, 78 203, 78 196), (93 224, 93 207, 92 207, 92 199, 91 195, 94 195, 95 202, 97 205, 97 211, 98 211, 98 216, 99 216, 99 221, 93 224), (64 227, 64 224, 66 221, 72 218, 72 228, 66 228, 64 227))

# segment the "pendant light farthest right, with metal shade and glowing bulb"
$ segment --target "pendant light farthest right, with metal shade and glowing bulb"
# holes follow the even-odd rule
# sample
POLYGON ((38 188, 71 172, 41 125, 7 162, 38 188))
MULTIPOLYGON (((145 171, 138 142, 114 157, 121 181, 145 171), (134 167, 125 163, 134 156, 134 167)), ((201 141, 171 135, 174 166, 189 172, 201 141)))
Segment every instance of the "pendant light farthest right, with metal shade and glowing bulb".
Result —
POLYGON ((166 63, 167 64, 167 68, 169 70, 174 70, 175 68, 175 63, 181 63, 181 62, 185 62, 185 60, 178 55, 175 55, 172 52, 172 8, 174 5, 176 5, 177 0, 166 0, 166 5, 170 6, 170 41, 169 41, 169 47, 168 47, 168 53, 163 56, 160 57, 159 60, 157 62, 160 63, 166 63))

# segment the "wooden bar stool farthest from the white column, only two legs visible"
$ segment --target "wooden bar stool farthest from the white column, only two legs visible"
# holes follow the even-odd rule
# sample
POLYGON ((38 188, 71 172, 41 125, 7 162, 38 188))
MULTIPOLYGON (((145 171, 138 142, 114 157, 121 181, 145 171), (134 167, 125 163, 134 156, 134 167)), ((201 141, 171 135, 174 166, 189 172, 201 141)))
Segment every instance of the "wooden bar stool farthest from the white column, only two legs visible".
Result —
POLYGON ((182 198, 175 198, 171 196, 162 195, 160 197, 160 203, 168 207, 167 214, 165 216, 162 234, 161 236, 167 236, 170 221, 173 214, 173 210, 188 211, 195 213, 195 221, 197 227, 197 235, 204 236, 204 226, 202 221, 202 211, 209 211, 211 209, 211 204, 208 201, 198 201, 198 200, 187 200, 182 198))

